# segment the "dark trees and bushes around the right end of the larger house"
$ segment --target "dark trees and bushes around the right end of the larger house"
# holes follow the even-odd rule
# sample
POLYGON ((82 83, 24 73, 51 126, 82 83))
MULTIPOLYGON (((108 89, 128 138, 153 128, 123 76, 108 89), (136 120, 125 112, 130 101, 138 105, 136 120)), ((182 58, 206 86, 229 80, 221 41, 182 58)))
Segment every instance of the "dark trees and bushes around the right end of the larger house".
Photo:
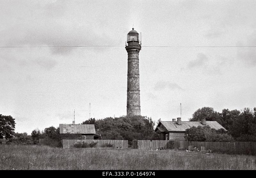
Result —
POLYGON ((197 109, 189 121, 206 118, 206 121, 217 121, 228 132, 204 127, 192 127, 187 130, 185 138, 188 141, 219 141, 219 142, 249 142, 256 141, 256 107, 243 111, 223 109, 221 113, 211 107, 197 109))

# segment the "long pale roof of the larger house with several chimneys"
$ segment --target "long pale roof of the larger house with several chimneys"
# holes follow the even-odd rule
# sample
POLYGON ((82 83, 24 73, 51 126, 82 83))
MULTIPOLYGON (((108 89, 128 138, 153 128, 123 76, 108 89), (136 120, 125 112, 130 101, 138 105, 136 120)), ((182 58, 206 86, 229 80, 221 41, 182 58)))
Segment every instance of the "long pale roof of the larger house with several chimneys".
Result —
MULTIPOLYGON (((160 121, 155 131, 157 129, 160 130, 159 129, 160 123, 166 129, 164 131, 177 131, 177 132, 185 132, 186 129, 189 129, 190 127, 193 127, 193 126, 195 127, 204 126, 200 121, 181 121, 181 125, 178 125, 176 121, 160 121)), ((217 121, 206 121, 206 125, 209 125, 211 128, 216 130, 224 129, 225 131, 228 131, 224 127, 222 127, 217 121)), ((164 128, 161 128, 161 130, 163 130, 164 128)))

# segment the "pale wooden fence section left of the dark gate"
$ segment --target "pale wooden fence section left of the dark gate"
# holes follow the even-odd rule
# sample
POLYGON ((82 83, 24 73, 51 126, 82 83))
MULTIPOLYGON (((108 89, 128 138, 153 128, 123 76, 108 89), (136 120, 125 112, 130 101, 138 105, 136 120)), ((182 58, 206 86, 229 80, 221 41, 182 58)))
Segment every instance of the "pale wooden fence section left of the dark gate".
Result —
POLYGON ((61 140, 63 148, 70 148, 78 142, 92 143, 98 142, 96 147, 102 147, 105 144, 111 144, 114 148, 125 149, 128 148, 128 140, 61 140))

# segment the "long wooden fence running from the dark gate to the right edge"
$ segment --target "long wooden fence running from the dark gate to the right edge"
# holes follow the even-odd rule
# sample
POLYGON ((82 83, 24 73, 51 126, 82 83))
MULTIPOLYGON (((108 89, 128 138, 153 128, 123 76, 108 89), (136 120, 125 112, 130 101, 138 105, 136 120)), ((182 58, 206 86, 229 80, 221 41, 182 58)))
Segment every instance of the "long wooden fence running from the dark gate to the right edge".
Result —
POLYGON ((164 149, 185 148, 192 145, 198 149, 205 147, 206 150, 233 151, 236 153, 256 154, 256 142, 190 142, 190 141, 170 141, 170 140, 138 140, 138 149, 156 150, 163 147, 164 149))

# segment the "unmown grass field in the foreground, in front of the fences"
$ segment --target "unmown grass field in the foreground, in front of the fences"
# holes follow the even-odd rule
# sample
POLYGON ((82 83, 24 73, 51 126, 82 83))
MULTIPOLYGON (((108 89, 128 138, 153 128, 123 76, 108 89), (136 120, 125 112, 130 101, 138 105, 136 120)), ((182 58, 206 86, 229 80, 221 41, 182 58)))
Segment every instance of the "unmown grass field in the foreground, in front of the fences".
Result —
POLYGON ((38 145, 0 145, 0 150, 0 170, 256 170, 256 156, 249 155, 38 145))

